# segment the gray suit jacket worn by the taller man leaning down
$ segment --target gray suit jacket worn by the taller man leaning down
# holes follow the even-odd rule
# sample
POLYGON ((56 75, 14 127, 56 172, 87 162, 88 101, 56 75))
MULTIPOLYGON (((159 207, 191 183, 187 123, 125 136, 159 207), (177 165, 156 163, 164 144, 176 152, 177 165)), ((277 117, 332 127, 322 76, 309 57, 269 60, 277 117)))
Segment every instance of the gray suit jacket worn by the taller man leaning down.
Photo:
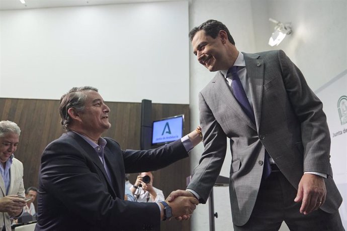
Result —
POLYGON ((199 94, 205 151, 188 188, 206 202, 220 173, 229 138, 234 224, 245 224, 252 212, 265 150, 295 188, 304 171, 327 174, 327 198, 321 209, 335 212, 342 198, 332 180, 330 135, 321 101, 283 51, 243 54, 256 124, 243 112, 218 71, 199 94))

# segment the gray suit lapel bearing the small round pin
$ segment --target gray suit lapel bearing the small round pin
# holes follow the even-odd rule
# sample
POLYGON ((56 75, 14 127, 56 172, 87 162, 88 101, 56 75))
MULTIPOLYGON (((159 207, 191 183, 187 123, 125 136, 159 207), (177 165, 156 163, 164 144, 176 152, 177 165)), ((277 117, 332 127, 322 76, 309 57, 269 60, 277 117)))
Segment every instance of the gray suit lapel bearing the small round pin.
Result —
POLYGON ((259 55, 256 54, 243 53, 243 55, 246 63, 247 77, 250 83, 249 89, 252 98, 255 123, 256 127, 259 128, 263 101, 264 60, 257 59, 259 55))

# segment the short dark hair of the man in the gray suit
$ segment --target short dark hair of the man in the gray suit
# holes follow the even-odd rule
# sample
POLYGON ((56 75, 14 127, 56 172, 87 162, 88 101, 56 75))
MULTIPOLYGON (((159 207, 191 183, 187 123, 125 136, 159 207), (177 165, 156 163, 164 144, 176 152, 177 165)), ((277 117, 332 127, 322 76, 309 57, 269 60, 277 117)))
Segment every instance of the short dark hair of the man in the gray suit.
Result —
POLYGON ((222 24, 221 22, 219 22, 217 20, 210 19, 210 20, 207 20, 205 23, 201 24, 199 27, 193 28, 189 32, 189 39, 192 41, 195 34, 201 30, 205 31, 206 35, 211 36, 214 39, 217 38, 219 31, 223 30, 228 35, 229 42, 232 45, 235 45, 234 39, 230 35, 228 28, 224 24, 222 24))

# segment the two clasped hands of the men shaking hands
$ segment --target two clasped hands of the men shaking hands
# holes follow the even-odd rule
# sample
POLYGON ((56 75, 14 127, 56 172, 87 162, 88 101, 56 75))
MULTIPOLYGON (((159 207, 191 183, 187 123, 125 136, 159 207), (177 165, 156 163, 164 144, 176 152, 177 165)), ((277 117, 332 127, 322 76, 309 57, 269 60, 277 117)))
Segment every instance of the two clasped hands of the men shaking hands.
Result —
POLYGON ((165 202, 170 208, 164 208, 165 203, 160 203, 161 220, 175 217, 177 220, 188 220, 194 209, 199 204, 199 200, 193 193, 186 190, 172 191, 165 202))

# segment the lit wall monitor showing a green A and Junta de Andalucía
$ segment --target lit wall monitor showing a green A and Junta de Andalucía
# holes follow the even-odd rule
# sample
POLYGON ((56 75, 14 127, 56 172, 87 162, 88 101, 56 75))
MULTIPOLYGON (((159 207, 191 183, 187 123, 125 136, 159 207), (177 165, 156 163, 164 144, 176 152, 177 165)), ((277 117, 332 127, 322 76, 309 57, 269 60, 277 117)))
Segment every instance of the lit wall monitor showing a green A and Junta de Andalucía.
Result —
POLYGON ((153 121, 152 145, 162 145, 181 139, 184 121, 184 114, 153 121))

